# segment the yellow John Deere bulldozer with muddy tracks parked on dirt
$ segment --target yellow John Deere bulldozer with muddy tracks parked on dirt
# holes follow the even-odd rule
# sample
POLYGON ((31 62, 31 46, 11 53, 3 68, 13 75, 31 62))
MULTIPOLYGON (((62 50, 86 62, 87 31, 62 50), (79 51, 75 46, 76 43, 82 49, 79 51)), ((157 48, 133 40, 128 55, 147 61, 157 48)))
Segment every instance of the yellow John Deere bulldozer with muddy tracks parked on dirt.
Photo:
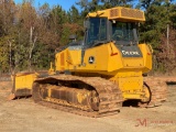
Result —
POLYGON ((165 84, 144 77, 152 69, 153 50, 139 43, 143 22, 144 12, 131 8, 88 13, 84 40, 72 35, 47 74, 15 74, 11 99, 32 95, 36 103, 87 117, 119 113, 128 100, 139 107, 161 105, 165 84))

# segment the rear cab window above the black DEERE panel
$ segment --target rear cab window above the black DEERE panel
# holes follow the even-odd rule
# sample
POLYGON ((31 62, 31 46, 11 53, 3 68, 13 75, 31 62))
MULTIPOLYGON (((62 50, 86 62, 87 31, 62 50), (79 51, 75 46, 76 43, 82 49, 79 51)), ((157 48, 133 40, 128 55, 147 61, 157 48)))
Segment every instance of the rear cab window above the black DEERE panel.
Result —
POLYGON ((135 23, 112 23, 112 40, 120 45, 136 44, 138 35, 135 23))

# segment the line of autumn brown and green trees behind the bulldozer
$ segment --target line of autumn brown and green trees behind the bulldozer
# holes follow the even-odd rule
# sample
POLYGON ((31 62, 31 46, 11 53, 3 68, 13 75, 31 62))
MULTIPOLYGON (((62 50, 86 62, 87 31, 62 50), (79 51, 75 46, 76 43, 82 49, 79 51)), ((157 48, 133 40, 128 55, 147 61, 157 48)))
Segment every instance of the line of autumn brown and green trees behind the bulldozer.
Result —
POLYGON ((65 11, 59 4, 34 6, 32 0, 15 4, 0 0, 0 72, 47 69, 57 48, 68 44, 69 35, 84 36, 88 12, 117 6, 141 9, 146 22, 140 25, 140 43, 154 48, 154 70, 176 67, 175 0, 79 0, 65 11))

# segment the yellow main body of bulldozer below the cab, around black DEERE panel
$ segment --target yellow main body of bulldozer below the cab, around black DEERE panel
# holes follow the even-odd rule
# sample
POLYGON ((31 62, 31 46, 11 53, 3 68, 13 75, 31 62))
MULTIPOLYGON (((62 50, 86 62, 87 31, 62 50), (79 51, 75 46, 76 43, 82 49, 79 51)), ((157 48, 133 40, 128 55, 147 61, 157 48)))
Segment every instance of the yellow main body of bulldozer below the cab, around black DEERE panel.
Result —
POLYGON ((152 69, 152 52, 146 44, 139 44, 143 57, 122 57, 113 43, 107 43, 85 52, 81 62, 80 50, 66 48, 56 54, 56 72, 70 72, 77 76, 99 76, 110 79, 119 86, 124 99, 142 99, 143 74, 152 69), (94 64, 89 63, 95 57, 94 64))

